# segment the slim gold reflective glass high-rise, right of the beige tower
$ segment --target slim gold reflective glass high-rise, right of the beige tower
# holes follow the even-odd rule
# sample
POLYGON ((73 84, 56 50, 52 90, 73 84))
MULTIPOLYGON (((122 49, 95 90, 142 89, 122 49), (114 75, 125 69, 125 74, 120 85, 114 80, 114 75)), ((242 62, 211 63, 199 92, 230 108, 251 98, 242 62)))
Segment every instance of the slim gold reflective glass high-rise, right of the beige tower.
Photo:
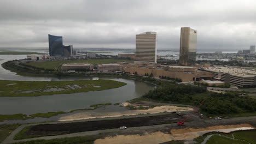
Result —
POLYGON ((197 31, 190 27, 181 28, 179 47, 179 64, 195 65, 196 63, 197 31))

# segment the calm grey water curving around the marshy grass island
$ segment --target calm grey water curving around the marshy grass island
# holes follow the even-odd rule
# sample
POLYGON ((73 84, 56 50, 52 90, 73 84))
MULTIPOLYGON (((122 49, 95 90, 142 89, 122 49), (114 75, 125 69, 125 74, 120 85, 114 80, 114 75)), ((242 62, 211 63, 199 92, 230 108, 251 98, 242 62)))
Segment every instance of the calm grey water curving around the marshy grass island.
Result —
MULTIPOLYGON (((0 64, 12 59, 22 59, 26 55, 0 55, 0 64)), ((22 81, 60 81, 60 80, 86 80, 98 79, 98 77, 31 77, 19 76, 15 73, 0 67, 0 80, 22 80, 22 81)), ((105 78, 107 79, 107 78, 105 78)), ((119 103, 133 98, 141 97, 154 86, 144 82, 126 79, 111 79, 127 83, 119 88, 104 91, 44 95, 40 97, 0 97, 0 114, 15 113, 43 113, 50 111, 70 111, 74 109, 84 109, 91 104, 119 103)))

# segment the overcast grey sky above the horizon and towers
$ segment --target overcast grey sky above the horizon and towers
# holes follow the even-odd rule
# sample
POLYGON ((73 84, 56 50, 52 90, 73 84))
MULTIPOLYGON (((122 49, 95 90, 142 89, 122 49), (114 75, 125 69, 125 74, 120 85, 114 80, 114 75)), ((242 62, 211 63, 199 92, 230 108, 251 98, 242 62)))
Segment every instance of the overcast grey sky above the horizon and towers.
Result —
POLYGON ((63 45, 135 49, 135 35, 158 33, 158 49, 179 49, 181 27, 197 30, 199 50, 256 45, 255 0, 0 0, 0 47, 63 45))

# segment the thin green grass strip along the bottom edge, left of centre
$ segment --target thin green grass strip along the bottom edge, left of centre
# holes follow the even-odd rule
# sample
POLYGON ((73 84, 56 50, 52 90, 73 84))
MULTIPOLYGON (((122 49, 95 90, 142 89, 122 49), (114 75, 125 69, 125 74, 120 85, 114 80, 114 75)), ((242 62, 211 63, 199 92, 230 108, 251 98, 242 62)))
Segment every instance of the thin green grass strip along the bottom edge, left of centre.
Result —
POLYGON ((62 139, 52 139, 52 140, 33 140, 26 142, 16 142, 13 144, 74 144, 74 143, 83 143, 83 144, 92 144, 99 137, 65 137, 62 139))

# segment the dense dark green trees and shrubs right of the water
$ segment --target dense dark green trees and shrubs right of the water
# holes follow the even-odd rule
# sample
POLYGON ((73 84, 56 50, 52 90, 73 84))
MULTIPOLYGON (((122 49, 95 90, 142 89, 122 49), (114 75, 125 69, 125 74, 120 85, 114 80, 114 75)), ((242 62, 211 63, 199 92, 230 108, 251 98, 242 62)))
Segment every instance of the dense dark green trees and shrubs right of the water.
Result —
POLYGON ((144 94, 143 98, 189 105, 205 101, 200 107, 201 112, 213 115, 256 112, 256 100, 251 97, 240 97, 237 92, 206 92, 203 86, 161 83, 159 87, 144 94))

